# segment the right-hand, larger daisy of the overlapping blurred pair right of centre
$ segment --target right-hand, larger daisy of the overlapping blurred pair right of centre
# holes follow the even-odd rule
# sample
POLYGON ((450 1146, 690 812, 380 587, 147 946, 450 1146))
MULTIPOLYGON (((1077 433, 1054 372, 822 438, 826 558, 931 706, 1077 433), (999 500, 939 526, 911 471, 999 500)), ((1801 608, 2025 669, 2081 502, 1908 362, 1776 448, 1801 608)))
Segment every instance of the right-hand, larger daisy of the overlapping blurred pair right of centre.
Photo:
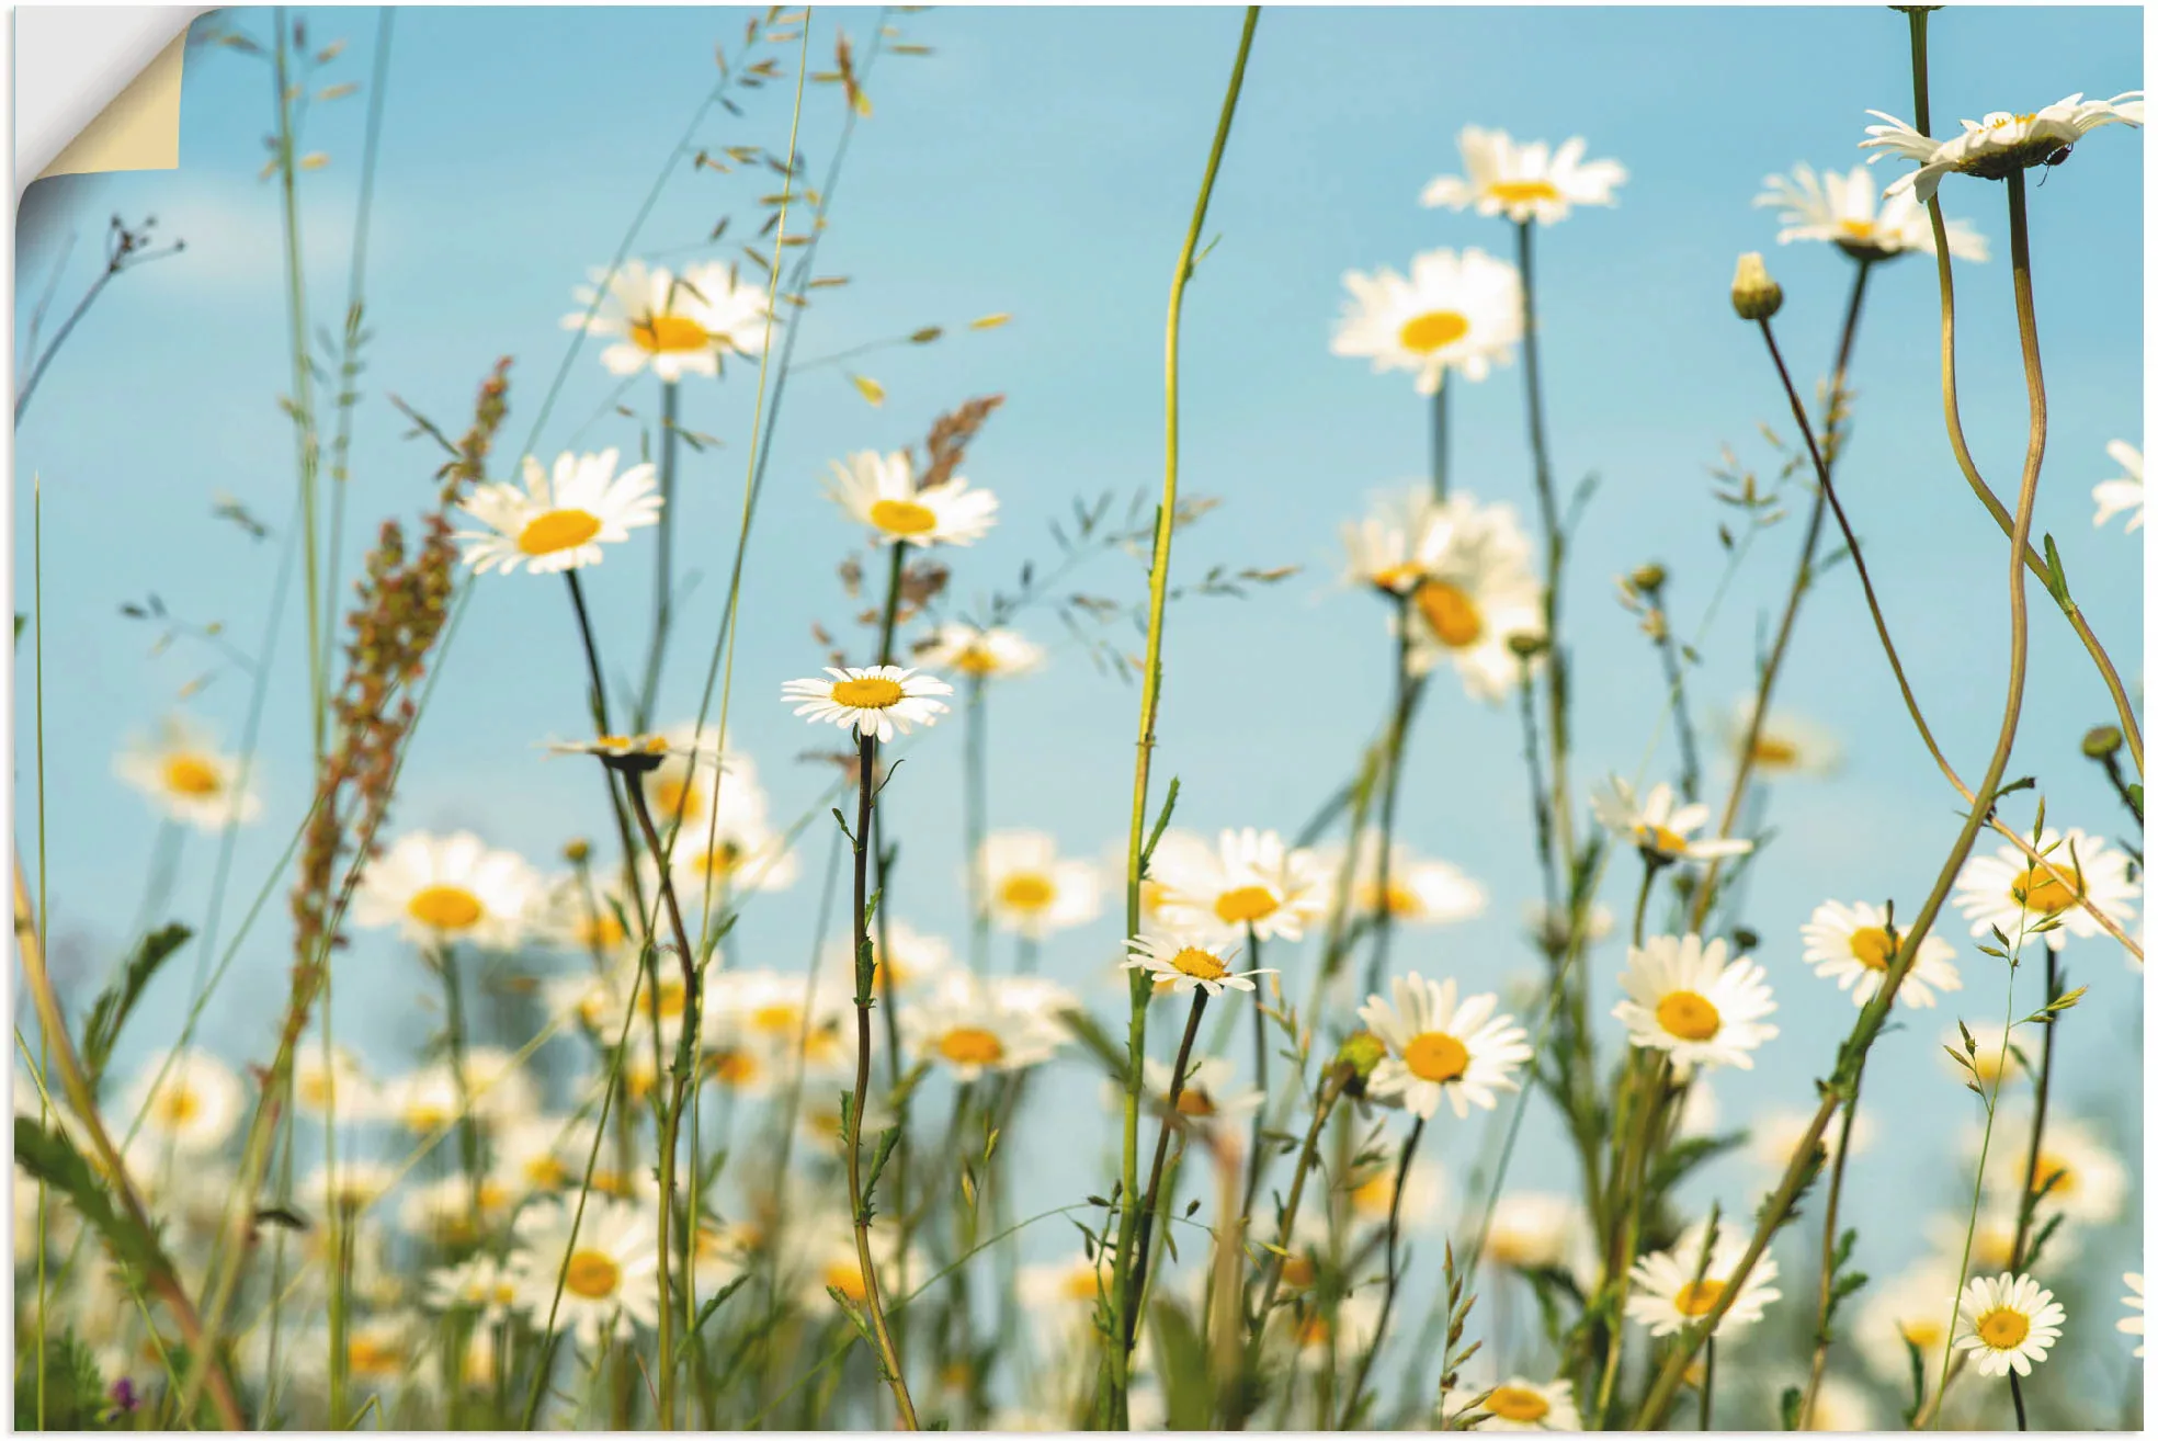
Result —
POLYGON ((1450 664, 1478 701, 1513 690, 1524 671, 1515 643, 1543 636, 1543 585, 1511 505, 1457 494, 1437 507, 1403 617, 1411 673, 1450 664))

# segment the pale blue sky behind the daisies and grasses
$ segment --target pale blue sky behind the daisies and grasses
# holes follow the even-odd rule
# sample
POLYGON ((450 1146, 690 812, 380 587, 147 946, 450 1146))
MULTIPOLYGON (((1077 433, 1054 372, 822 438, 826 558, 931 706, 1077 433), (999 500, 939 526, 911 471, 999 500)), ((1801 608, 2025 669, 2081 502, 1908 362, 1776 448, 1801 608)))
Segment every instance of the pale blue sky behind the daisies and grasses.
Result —
MULTIPOLYGON (((268 32, 268 15, 233 19, 268 32)), ((868 11, 837 15, 859 41, 868 11)), ((829 58, 829 15, 811 58, 829 58)), ((1239 13, 954 9, 904 19, 930 58, 889 58, 872 76, 842 179, 827 272, 852 285, 805 319, 805 358, 941 324, 928 347, 868 356, 859 369, 889 390, 868 408, 839 367, 805 371, 781 416, 766 507, 745 587, 745 645, 734 733, 760 761, 775 811, 816 800, 822 772, 792 766, 809 738, 777 701, 781 680, 816 667, 809 621, 837 623, 848 604, 833 567, 857 541, 820 494, 831 457, 919 440, 930 418, 978 393, 1006 410, 967 472, 1003 500, 999 529, 956 561, 956 591, 1008 587, 1047 559, 1047 522, 1075 494, 1129 496, 1159 485, 1161 313, 1189 216, 1239 13), (1016 319, 958 332, 982 313, 1016 319)), ((319 39, 350 37, 324 80, 367 80, 373 11, 324 11, 319 39)), ((712 43, 738 47, 740 17, 697 9, 414 9, 397 15, 369 261, 375 343, 354 440, 354 552, 378 518, 410 513, 434 455, 401 438, 384 403, 395 390, 447 429, 462 429, 470 393, 503 354, 518 358, 505 444, 529 429, 568 343, 559 317, 587 265, 619 244, 645 186, 712 80, 712 43)), ((2141 84, 2134 9, 1957 9, 1934 22, 1936 132, 1955 116, 2031 110, 2072 91, 2113 95, 2141 84)), ((792 63, 792 60, 788 60, 792 63)), ((704 145, 783 147, 790 88, 712 123, 704 145)), ((287 386, 276 196, 257 183, 270 125, 263 65, 188 56, 177 173, 69 177, 30 192, 22 231, 17 315, 80 244, 60 280, 86 283, 104 220, 153 211, 186 255, 125 276, 54 365, 17 440, 19 472, 45 483, 47 876, 54 932, 101 973, 132 915, 155 826, 110 772, 132 731, 207 667, 201 647, 147 658, 151 632, 121 619, 123 600, 155 591, 192 621, 218 619, 244 649, 259 645, 274 541, 255 544, 209 516, 231 492, 272 526, 291 505, 289 427, 274 406, 287 386)), ((1338 526, 1375 490, 1418 483, 1424 412, 1401 375, 1370 375, 1327 354, 1340 272, 1407 267, 1431 246, 1506 252, 1502 222, 1420 209, 1426 179, 1457 168, 1463 123, 1562 140, 1631 170, 1610 211, 1577 211, 1539 237, 1541 308, 1554 464, 1562 488, 1599 477, 1569 576, 1577 777, 1631 772, 1653 729, 1653 656, 1614 602, 1610 578, 1657 559, 1692 626, 1720 567, 1709 466, 1724 442, 1763 472, 1774 455, 1757 421, 1789 431, 1774 375, 1726 287, 1742 250, 1767 250, 1787 289, 1778 332, 1802 375, 1819 375, 1841 317, 1847 261, 1821 246, 1778 248, 1776 222, 1748 201, 1761 177, 1806 160, 1856 164, 1869 108, 1910 116, 1903 19, 1884 9, 1450 9, 1271 11, 1260 24, 1243 110, 1215 194, 1219 237, 1193 280, 1185 326, 1185 488, 1224 505, 1178 537, 1176 574, 1221 565, 1301 565, 1297 578, 1172 613, 1157 774, 1183 779, 1180 822, 1293 831, 1353 761, 1377 723, 1390 664, 1375 604, 1334 582, 1338 526)), ((803 153, 831 153, 837 93, 811 86, 803 153)), ((304 179, 309 302, 317 319, 343 304, 360 155, 363 99, 326 106, 306 147, 330 155, 304 179)), ((1880 168, 1880 179, 1895 173, 1880 168)), ((2037 524, 2057 535, 2078 598, 2141 684, 2141 535, 2091 529, 2089 490, 2113 475, 2104 444, 2141 444, 2143 138, 2106 129, 2033 190, 2033 252, 2052 440, 2037 524)), ((723 214, 753 229, 770 175, 675 175, 639 252, 684 259, 723 214)), ((1949 211, 1972 220, 1996 259, 1959 265, 1964 416, 1998 492, 2013 488, 2024 401, 2009 304, 2003 188, 1951 179, 1949 211)), ((1856 438, 1841 490, 1854 509, 1914 684, 1966 777, 1983 768, 2005 680, 2003 544, 1949 457, 1938 399, 1936 293, 1925 259, 1875 276, 1854 382, 1856 438)), ((17 321, 17 339, 22 334, 17 321)), ((691 595, 665 690, 667 716, 695 708, 734 544, 753 371, 691 386, 684 425, 725 444, 686 455, 680 554, 704 582, 691 595)), ((540 451, 552 453, 609 395, 593 352, 570 371, 540 451)), ((650 390, 626 401, 652 412, 650 390)), ((1530 505, 1519 369, 1454 397, 1454 483, 1530 505)), ((587 447, 637 447, 628 421, 602 418, 587 447)), ((28 488, 17 485, 17 608, 28 610, 28 488)), ((1726 705, 1750 684, 1757 634, 1789 580, 1795 524, 1759 541, 1716 630, 1696 695, 1726 705)), ((628 669, 641 656, 647 554, 617 552, 591 574, 602 645, 628 669)), ((1137 598, 1139 565, 1107 557, 1083 589, 1137 598)), ((2048 815, 2115 835, 2117 805, 2076 755, 2106 718, 2095 675, 2033 589, 2031 701, 2016 766, 2035 772, 2048 815)), ((1047 617, 1034 617, 1036 628, 1047 617)), ((1051 639, 1047 632, 1042 639, 1051 639)), ((306 723, 300 626, 278 639, 281 682, 268 708, 265 824, 240 848, 237 895, 250 895, 304 809, 306 723)), ((548 863, 561 839, 598 831, 589 779, 535 749, 581 729, 583 680, 561 589, 514 578, 481 587, 442 671, 406 790, 399 828, 470 826, 548 863)), ((17 692, 28 703, 28 688, 17 692)), ((1783 1040, 1752 1074, 1720 1083, 1724 1113, 1757 1102, 1804 1104, 1849 1018, 1847 1001, 1798 962, 1798 925, 1824 897, 1897 895, 1916 906, 1955 833, 1953 794, 1927 764, 1865 621, 1849 569, 1808 602, 1783 699, 1832 727, 1849 751, 1828 781, 1776 790, 1778 837, 1752 882, 1752 921, 1778 988, 1783 1040)), ((224 673, 194 703, 231 738, 246 686, 224 673)), ((1012 684, 993 712, 993 820, 1053 831, 1098 854, 1126 824, 1135 692, 1064 649, 1040 677, 1012 684)), ((28 720, 28 712, 19 716, 28 720)), ((35 774, 17 731, 22 796, 35 774)), ((1657 757, 1670 764, 1668 742, 1657 757)), ((956 884, 958 736, 932 733, 893 792, 915 891, 902 915, 960 930, 956 884)), ((1526 964, 1517 915, 1534 893, 1528 865, 1519 736, 1511 710, 1442 692, 1422 716, 1403 807, 1405 837, 1448 856, 1493 891, 1489 912, 1398 956, 1435 973, 1495 984, 1526 964)), ((2029 820, 2026 811, 2018 811, 2029 820)), ((822 831, 805 872, 822 859, 822 831)), ((177 912, 199 915, 211 848, 183 852, 177 912)), ((1606 902, 1621 906, 1623 880, 1606 902)), ((794 893, 745 915, 734 949, 749 964, 796 966, 814 897, 794 893)), ((259 1053, 283 997, 283 904, 248 941, 207 1033, 259 1053)), ((1968 986, 1947 1012, 1893 1035, 1869 1079, 1899 1096, 1882 1139, 1860 1156, 1882 1193, 1936 1180, 1940 1137, 1968 1120, 1968 1096, 1934 1048, 1951 1014, 1998 1020, 2000 975, 1959 925, 1968 986), (1983 962, 1983 964, 1981 964, 1983 962)), ((1057 943, 1049 969, 1070 979, 1114 945, 1109 923, 1057 943)), ((1295 964, 1295 962, 1290 962, 1295 964)), ((1608 958, 1616 964, 1616 958, 1608 958)), ((2119 1068, 2136 1057, 2141 979, 2113 947, 2074 943, 2074 979, 2095 1005, 2074 1016, 2061 1096, 2139 1124, 2119 1068)), ((181 966, 186 971, 188 966, 181 966)), ((395 947, 363 938, 339 979, 339 1031, 382 1055, 419 1027, 421 973, 395 947)), ((2035 994, 2037 984, 2024 984, 2035 994)), ((179 1005, 179 990, 170 992, 179 1005)), ((1103 992, 1107 1003, 1107 992, 1103 992)), ((147 1025, 145 1031, 153 1029, 147 1025)), ((142 1035, 140 1040, 155 1040, 142 1035)), ((1092 1104, 1092 1079, 1051 1096, 1092 1104)), ((2136 1143, 2136 1135, 2126 1137, 2136 1143)), ((1467 1139, 1461 1141, 1467 1150, 1467 1139)), ((1754 1178, 1726 1163, 1726 1202, 1754 1178)), ((1457 1167, 1459 1174, 1461 1167, 1457 1167)), ((1070 1186, 1090 1186, 1092 1167, 1070 1186)), ((1567 1180, 1556 1152, 1530 1145, 1536 1184, 1567 1180)), ((1066 1189, 1070 1189, 1066 1186, 1066 1189)), ((1079 1191, 1073 1191, 1075 1195, 1079 1191)), ((1884 1245, 1916 1238, 1921 1217, 1880 1214, 1884 1245)), ((1869 1232, 1869 1243, 1873 1234, 1869 1232)))

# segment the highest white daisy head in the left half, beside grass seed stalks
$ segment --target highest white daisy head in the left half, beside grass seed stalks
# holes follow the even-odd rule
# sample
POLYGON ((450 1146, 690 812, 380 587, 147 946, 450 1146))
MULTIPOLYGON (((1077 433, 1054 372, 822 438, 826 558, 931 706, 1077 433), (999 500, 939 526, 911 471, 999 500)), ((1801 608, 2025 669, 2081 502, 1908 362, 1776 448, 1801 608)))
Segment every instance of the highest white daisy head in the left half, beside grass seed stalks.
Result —
POLYGON ((755 356, 770 337, 770 308, 755 285, 736 285, 727 265, 665 265, 624 261, 593 270, 576 287, 581 311, 563 315, 563 330, 619 337, 600 352, 615 375, 652 371, 665 382, 719 375, 729 356, 755 356))

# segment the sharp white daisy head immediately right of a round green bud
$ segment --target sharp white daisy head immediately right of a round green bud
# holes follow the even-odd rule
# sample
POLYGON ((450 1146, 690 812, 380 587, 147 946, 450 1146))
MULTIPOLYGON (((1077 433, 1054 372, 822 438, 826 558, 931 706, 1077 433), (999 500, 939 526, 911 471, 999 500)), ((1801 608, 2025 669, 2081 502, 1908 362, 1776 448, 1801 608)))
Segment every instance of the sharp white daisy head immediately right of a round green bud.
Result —
POLYGON ((1513 1072, 1530 1057, 1528 1031, 1498 1014, 1495 994, 1461 1001, 1450 977, 1426 982, 1409 973, 1394 977, 1392 1003, 1370 997, 1357 1018, 1385 1042, 1368 1094, 1424 1120, 1437 1113, 1442 1096, 1457 1117, 1467 1117, 1470 1104, 1491 1111, 1493 1092, 1521 1085, 1513 1072))

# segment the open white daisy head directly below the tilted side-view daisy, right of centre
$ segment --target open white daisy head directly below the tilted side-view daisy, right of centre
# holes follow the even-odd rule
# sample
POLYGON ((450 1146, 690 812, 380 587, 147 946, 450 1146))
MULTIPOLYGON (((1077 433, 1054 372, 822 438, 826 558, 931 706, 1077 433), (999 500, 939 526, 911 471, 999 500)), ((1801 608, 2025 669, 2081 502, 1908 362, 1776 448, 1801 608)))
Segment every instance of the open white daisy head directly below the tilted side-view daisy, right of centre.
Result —
POLYGON ((1679 1074, 1694 1066, 1752 1070, 1752 1053, 1774 1040, 1761 1018, 1776 1010, 1767 973, 1750 956, 1731 958, 1722 936, 1649 936, 1627 947, 1618 973, 1625 1001, 1612 1016, 1636 1046, 1664 1051, 1679 1074))

